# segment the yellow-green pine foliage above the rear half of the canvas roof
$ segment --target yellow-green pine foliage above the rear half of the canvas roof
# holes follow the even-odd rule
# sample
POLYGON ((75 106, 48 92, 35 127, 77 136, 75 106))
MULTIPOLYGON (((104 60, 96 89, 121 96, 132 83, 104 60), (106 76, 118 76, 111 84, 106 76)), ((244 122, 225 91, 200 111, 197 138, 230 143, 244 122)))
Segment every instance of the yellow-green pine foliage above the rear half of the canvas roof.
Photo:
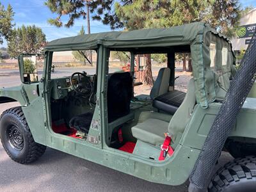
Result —
MULTIPOLYGON (((116 3, 115 10, 116 16, 128 30, 166 28, 203 20, 228 36, 234 36, 241 12, 239 1, 235 0, 138 0, 128 4, 116 3)), ((187 55, 184 55, 183 58, 183 70, 186 70, 187 55)), ((189 59, 189 71, 191 69, 189 59)))

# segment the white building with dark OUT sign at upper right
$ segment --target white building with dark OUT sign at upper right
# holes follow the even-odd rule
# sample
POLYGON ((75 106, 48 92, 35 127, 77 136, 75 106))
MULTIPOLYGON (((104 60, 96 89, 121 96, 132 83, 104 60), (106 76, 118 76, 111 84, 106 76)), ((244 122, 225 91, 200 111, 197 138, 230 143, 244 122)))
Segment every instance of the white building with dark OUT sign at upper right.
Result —
POLYGON ((237 38, 232 39, 233 51, 246 50, 256 30, 256 8, 248 12, 240 20, 237 38))

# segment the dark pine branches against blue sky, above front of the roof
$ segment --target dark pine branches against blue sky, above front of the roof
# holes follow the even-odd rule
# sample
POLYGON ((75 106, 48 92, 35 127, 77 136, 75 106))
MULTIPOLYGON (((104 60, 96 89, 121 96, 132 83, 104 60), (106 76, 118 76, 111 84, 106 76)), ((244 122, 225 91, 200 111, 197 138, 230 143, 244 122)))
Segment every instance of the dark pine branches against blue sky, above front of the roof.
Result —
MULTIPOLYGON (((132 0, 121 0, 125 4, 132 2, 132 0)), ((113 10, 113 4, 115 0, 104 1, 90 1, 90 0, 47 0, 45 5, 51 10, 52 13, 56 13, 55 18, 51 18, 48 22, 54 26, 69 28, 74 25, 74 21, 79 18, 84 20, 87 17, 86 6, 91 13, 92 18, 95 20, 102 20, 104 24, 108 24, 112 29, 122 28, 122 22, 116 17, 115 10, 113 10), (62 17, 68 17, 66 23, 63 24, 62 17)), ((65 19, 67 18, 65 17, 65 19)))

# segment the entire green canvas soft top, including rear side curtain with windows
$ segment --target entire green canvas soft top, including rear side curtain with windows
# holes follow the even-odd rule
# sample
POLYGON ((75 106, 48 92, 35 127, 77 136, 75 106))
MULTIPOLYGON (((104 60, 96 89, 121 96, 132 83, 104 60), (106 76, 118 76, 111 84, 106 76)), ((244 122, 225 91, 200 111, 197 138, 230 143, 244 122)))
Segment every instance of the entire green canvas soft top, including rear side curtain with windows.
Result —
POLYGON ((227 37, 209 27, 205 22, 194 22, 164 29, 111 31, 60 38, 49 42, 45 51, 97 49, 99 45, 110 49, 127 50, 129 48, 136 49, 136 47, 190 45, 196 100, 203 108, 207 108, 209 103, 221 95, 220 87, 222 90, 229 87, 231 65, 235 61, 232 46, 227 37), (211 67, 210 58, 210 44, 212 43, 216 45, 214 68, 211 67), (226 47, 228 51, 225 66, 222 66, 221 60, 223 47, 226 47))

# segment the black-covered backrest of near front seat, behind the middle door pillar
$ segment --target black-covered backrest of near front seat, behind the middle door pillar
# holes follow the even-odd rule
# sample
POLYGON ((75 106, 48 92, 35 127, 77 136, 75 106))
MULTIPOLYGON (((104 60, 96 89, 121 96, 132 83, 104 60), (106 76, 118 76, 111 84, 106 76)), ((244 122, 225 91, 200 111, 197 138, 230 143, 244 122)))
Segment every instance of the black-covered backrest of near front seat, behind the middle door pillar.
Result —
POLYGON ((130 113, 132 99, 132 76, 129 72, 118 72, 108 80, 108 122, 130 113))

